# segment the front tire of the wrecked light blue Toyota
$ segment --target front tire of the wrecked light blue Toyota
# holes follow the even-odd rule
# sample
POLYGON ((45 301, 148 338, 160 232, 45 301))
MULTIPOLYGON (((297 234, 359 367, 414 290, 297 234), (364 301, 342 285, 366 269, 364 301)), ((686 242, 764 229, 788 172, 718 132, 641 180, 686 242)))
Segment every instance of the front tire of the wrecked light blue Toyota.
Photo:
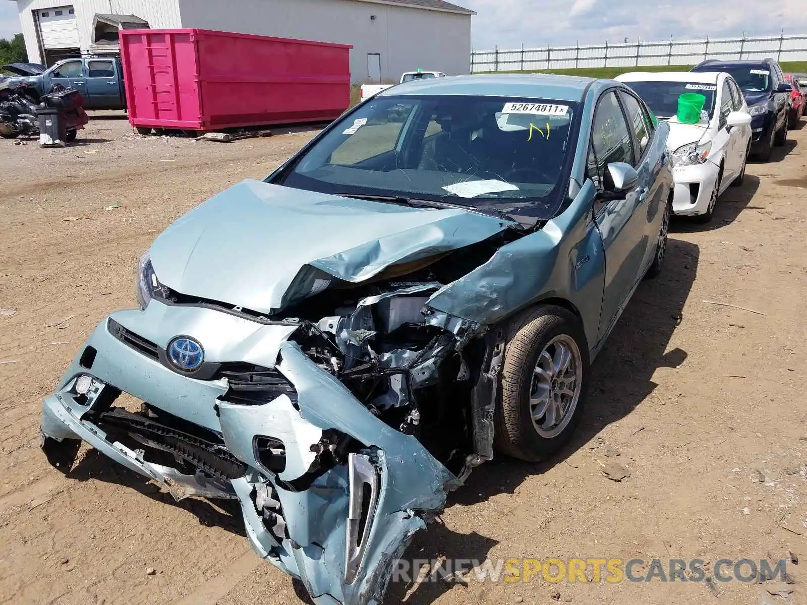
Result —
MULTIPOLYGON (((586 335, 571 311, 554 305, 539 305, 517 316, 510 326, 504 352, 500 398, 495 414, 495 449, 528 462, 543 460, 561 449, 575 432, 583 413, 588 374, 586 335), (548 435, 552 430, 540 434, 533 423, 530 397, 533 388, 542 386, 543 377, 536 373, 539 357, 546 360, 541 357, 546 350, 551 360, 553 354, 558 353, 558 344, 569 353, 573 370, 565 370, 562 378, 547 379, 546 400, 554 400, 558 407, 566 409, 560 421, 554 423, 555 434, 548 435), (561 394, 561 386, 568 386, 570 371, 575 375, 572 394, 561 394)), ((547 408, 547 415, 542 416, 547 423, 550 422, 549 413, 547 408)))

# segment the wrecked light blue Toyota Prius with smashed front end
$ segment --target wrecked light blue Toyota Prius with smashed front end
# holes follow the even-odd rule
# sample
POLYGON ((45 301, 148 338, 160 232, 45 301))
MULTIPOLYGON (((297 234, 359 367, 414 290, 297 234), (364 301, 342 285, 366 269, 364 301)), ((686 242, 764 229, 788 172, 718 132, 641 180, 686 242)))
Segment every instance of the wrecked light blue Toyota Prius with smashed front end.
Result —
POLYGON ((380 603, 494 451, 554 453, 670 216, 667 125, 615 81, 445 77, 346 113, 178 219, 44 402, 177 499, 236 499, 324 603, 380 603), (122 393, 139 411, 116 407, 122 393))

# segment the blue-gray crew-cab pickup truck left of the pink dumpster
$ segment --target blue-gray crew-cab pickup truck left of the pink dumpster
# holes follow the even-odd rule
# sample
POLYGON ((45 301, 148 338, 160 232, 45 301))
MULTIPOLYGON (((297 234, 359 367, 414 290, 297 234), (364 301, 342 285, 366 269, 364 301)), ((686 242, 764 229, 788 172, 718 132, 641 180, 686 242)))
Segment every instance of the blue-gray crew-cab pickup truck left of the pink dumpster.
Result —
POLYGON ((9 84, 27 82, 39 94, 55 84, 74 88, 84 97, 85 109, 126 109, 123 92, 123 67, 112 57, 65 59, 36 76, 10 77, 9 84))

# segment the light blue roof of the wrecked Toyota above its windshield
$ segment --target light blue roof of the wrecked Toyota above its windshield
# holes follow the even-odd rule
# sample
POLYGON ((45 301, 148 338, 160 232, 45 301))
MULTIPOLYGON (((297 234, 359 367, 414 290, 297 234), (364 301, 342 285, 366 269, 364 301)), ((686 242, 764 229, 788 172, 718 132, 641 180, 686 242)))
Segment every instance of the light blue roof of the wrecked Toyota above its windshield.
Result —
POLYGON ((457 94, 478 97, 547 98, 579 102, 591 77, 555 76, 551 74, 483 74, 423 78, 397 84, 376 95, 427 96, 457 94))

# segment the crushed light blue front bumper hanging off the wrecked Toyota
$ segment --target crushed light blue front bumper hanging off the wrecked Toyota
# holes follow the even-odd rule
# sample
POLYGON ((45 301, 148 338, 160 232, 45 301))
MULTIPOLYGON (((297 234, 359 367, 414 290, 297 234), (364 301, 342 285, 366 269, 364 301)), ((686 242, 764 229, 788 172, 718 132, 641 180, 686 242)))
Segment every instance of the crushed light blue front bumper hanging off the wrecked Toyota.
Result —
POLYGON ((145 311, 116 312, 98 325, 56 393, 45 399, 43 447, 50 456, 84 440, 177 499, 237 499, 253 549, 299 578, 318 605, 378 603, 395 561, 429 515, 441 511, 458 479, 414 437, 372 415, 337 378, 286 340, 294 331, 293 325, 157 301, 145 311), (226 378, 189 378, 161 361, 177 335, 199 340, 213 363, 248 362, 277 370, 294 394, 257 405, 228 402, 226 378), (77 394, 82 375, 93 379, 92 386, 77 394), (94 419, 99 406, 108 406, 119 392, 220 437, 226 448, 221 455, 242 465, 243 475, 224 480, 187 474, 182 465, 148 461, 143 449, 112 439, 94 419), (331 432, 360 445, 346 464, 304 481, 318 465, 324 434, 331 432), (285 447, 280 472, 267 469, 258 454, 257 440, 267 436, 285 447))

